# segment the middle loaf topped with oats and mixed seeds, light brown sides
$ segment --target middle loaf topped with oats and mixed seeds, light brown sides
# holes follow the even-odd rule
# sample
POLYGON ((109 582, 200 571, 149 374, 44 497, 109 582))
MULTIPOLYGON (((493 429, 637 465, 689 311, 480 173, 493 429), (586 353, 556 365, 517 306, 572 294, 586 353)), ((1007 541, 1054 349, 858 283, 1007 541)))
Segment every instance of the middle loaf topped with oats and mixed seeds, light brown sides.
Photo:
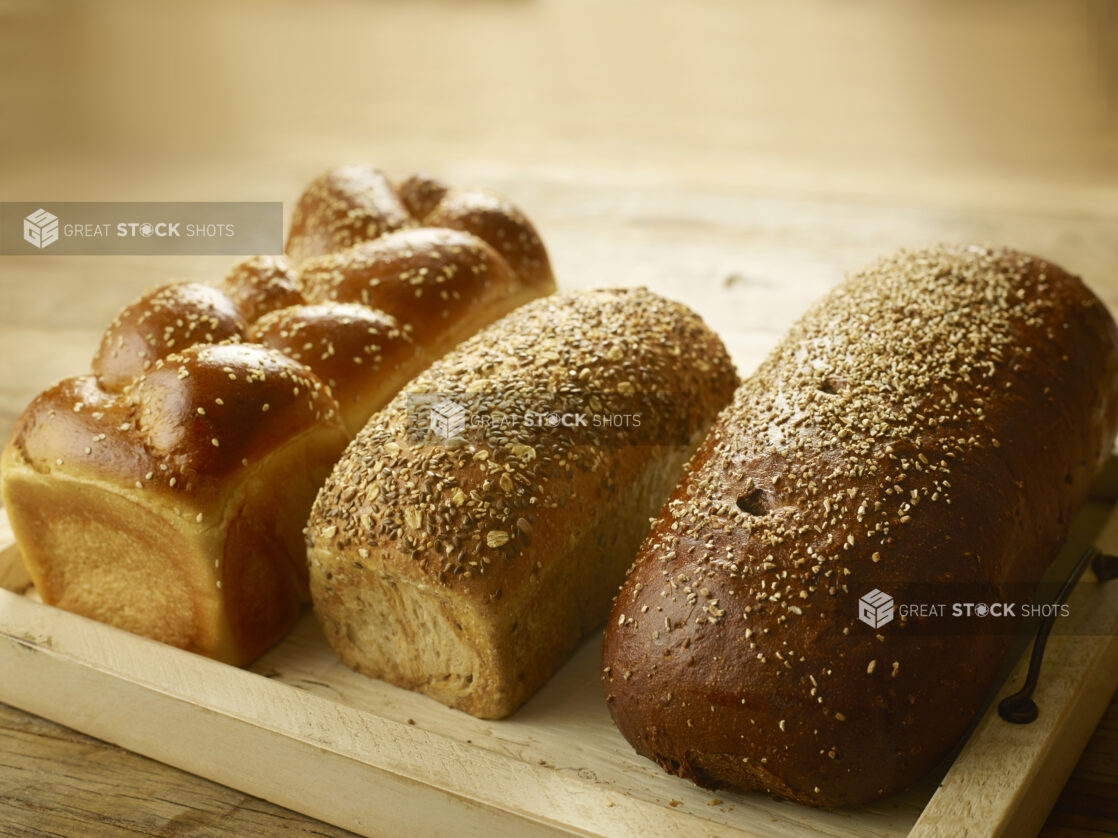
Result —
POLYGON ((645 291, 549 297, 485 330, 375 416, 319 495, 330 644, 367 675, 510 714, 600 625, 736 383, 702 321, 645 291), (420 397, 463 408, 457 430, 430 430, 420 397))

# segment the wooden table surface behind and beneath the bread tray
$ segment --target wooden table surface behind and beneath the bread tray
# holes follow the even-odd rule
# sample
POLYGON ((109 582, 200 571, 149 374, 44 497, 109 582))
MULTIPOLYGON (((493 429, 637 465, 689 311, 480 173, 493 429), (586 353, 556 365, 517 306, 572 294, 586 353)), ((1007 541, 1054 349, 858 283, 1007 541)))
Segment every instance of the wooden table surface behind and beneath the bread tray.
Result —
MULTIPOLYGON (((561 284, 704 301, 743 371, 904 244, 1032 249, 1118 311, 1118 3, 0 0, 0 200, 290 206, 343 161, 505 191, 561 284)), ((0 435, 230 261, 0 257, 0 435)), ((1112 702, 1042 834, 1116 831, 1112 702)), ((2 706, 0 834, 342 835, 2 706)))

